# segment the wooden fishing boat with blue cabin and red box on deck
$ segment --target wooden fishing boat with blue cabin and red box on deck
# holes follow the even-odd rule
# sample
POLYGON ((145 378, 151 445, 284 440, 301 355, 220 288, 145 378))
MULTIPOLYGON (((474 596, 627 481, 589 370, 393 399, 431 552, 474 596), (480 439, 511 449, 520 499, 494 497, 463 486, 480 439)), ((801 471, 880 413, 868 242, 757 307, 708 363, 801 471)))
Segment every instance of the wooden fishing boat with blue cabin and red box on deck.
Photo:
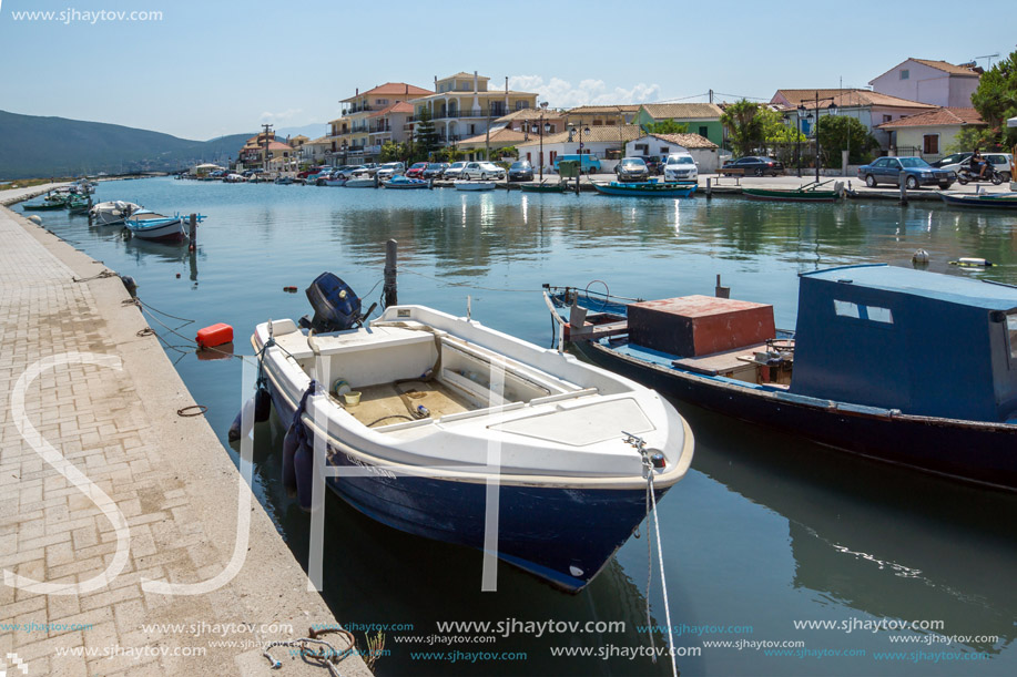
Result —
POLYGON ((547 287, 596 363, 739 419, 1017 490, 1017 288, 883 265, 802 274, 797 327, 712 297, 547 287))

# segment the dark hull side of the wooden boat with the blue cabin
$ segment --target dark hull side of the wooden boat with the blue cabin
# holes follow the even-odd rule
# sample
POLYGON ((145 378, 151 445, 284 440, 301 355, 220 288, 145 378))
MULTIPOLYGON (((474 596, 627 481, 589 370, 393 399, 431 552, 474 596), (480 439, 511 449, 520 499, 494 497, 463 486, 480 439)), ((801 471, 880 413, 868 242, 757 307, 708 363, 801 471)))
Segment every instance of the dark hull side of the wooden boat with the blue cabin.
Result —
POLYGON ((808 403, 808 398, 763 394, 749 387, 644 362, 601 342, 572 345, 606 369, 743 421, 881 461, 1017 490, 1017 425, 886 416, 885 410, 864 407, 818 407, 808 403))

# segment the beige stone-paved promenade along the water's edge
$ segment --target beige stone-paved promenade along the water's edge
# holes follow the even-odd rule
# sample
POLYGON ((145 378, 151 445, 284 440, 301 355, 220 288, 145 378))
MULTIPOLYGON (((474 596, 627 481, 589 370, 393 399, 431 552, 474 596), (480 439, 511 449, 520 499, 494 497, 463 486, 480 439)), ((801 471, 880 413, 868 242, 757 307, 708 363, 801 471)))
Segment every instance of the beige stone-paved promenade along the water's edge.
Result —
MULTIPOLYGON (((226 568, 243 480, 202 417, 176 414, 193 403, 191 394, 157 340, 136 336, 145 321, 122 304, 129 297, 120 279, 73 281, 104 269, 0 207, 0 673, 327 674, 286 648, 273 652, 282 670, 269 670, 261 655, 265 642, 306 636, 312 624, 335 618, 307 592, 256 500, 246 560, 228 583, 196 595, 143 589, 145 579, 200 583, 226 568), (72 352, 106 362, 57 363, 16 388, 40 360, 72 352), (120 369, 110 362, 118 358, 120 369), (20 420, 41 439, 31 440, 23 423, 27 434, 19 431, 22 403, 20 420), (57 465, 71 468, 58 472, 43 459, 47 448, 57 465), (90 498, 77 486, 75 469, 101 492, 90 498), (112 500, 105 512, 103 494, 112 500), (12 587, 16 575, 85 589, 40 594, 12 587), (88 589, 90 582, 98 585, 88 589), (221 642, 234 645, 212 645, 221 642)), ((345 646, 337 635, 325 639, 345 646)), ((340 671, 370 674, 357 657, 340 671)))

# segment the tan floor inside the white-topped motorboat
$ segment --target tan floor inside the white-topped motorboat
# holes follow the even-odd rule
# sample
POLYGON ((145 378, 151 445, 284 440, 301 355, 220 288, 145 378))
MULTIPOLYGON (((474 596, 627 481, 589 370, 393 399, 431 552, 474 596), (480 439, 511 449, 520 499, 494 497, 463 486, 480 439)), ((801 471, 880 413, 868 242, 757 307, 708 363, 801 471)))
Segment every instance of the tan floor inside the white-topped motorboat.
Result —
POLYGON ((359 404, 344 407, 360 423, 376 428, 414 420, 407 402, 414 408, 426 407, 431 419, 476 409, 468 399, 434 380, 368 386, 360 389, 359 404))

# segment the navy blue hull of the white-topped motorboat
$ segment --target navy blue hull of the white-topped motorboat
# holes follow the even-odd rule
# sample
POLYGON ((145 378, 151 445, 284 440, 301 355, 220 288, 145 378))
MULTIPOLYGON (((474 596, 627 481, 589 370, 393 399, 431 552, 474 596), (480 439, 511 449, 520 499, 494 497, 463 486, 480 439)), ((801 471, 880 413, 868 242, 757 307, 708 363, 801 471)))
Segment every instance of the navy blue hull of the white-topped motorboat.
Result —
MULTIPOLYGON (((282 420, 296 401, 268 372, 268 391, 282 420)), ((328 443, 328 465, 366 475, 328 478, 328 488, 368 517, 393 529, 484 548, 486 482, 397 476, 328 443)), ((655 490, 659 501, 670 486, 655 490)), ((644 489, 577 489, 499 483, 500 560, 570 593, 582 589, 645 516, 644 489), (565 573, 570 572, 570 573, 565 573)))

